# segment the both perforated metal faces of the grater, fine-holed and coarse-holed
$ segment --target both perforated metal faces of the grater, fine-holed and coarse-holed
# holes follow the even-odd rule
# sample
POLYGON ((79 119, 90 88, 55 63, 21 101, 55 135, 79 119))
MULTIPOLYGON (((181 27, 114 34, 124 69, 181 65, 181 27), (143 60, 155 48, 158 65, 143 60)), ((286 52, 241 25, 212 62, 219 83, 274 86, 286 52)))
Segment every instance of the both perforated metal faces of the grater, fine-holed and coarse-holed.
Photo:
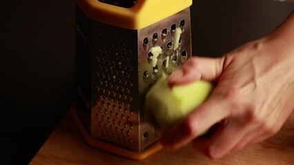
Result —
POLYGON ((191 56, 190 10, 140 30, 90 20, 90 32, 90 135, 143 151, 160 137, 144 116, 144 96, 162 73, 170 74, 191 56), (174 49, 177 28, 182 34, 174 49), (153 47, 161 48, 159 56, 150 52, 153 47))

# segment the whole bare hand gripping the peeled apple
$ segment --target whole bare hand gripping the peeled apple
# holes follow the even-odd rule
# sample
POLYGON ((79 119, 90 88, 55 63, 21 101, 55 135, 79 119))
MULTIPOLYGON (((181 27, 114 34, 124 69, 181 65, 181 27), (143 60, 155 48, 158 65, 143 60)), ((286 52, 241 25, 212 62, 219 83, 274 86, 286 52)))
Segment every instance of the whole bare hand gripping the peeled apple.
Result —
POLYGON ((173 85, 216 83, 210 98, 161 137, 170 149, 192 141, 212 159, 266 140, 294 109, 294 13, 271 34, 220 58, 190 58, 168 77, 173 85), (209 137, 198 137, 218 123, 209 137))

